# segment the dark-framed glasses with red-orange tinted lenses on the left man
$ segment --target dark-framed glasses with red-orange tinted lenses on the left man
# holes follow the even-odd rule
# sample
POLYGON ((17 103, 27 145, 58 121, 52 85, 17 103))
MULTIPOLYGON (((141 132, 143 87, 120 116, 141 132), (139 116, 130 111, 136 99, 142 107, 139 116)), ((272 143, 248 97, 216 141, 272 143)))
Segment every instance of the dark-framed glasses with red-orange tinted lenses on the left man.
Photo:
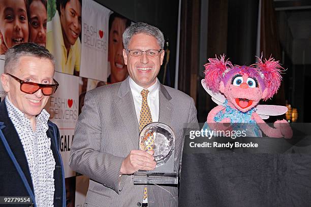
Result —
POLYGON ((11 74, 8 74, 8 73, 7 73, 7 75, 11 76, 16 81, 18 81, 20 83, 20 90, 22 92, 28 93, 28 94, 34 94, 38 90, 42 89, 43 95, 52 95, 53 93, 55 93, 55 91, 59 85, 55 79, 53 79, 55 84, 41 84, 41 83, 23 81, 23 80, 20 80, 19 78, 15 77, 11 74))

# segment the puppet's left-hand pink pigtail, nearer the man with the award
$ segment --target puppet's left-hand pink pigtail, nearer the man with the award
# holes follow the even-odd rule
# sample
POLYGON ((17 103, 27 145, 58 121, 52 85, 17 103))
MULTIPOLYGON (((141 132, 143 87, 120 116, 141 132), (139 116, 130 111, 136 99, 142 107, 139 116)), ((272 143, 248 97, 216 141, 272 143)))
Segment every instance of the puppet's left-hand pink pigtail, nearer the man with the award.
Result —
POLYGON ((219 92, 219 85, 224 75, 233 67, 232 63, 227 59, 225 61, 225 55, 221 55, 220 58, 208 58, 208 63, 204 64, 205 71, 205 83, 208 89, 213 92, 219 92))

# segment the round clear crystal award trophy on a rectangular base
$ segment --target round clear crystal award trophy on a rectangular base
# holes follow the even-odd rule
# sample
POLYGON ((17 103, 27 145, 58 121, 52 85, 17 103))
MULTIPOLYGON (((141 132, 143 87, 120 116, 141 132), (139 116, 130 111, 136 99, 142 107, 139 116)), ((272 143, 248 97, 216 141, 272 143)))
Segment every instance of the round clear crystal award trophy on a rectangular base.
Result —
POLYGON ((175 134, 171 127, 161 122, 146 125, 139 134, 139 149, 154 151, 156 167, 151 171, 135 172, 134 184, 177 184, 174 171, 175 134))

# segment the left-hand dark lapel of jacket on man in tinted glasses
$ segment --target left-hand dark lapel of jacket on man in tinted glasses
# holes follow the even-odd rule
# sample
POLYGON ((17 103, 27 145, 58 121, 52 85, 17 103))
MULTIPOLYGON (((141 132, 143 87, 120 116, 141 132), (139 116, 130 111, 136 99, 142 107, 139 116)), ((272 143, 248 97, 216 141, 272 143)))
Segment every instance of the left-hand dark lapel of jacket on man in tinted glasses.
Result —
POLYGON ((8 116, 7 107, 5 105, 5 100, 0 103, 0 121, 4 122, 5 127, 2 129, 5 139, 7 140, 18 164, 20 165, 22 171, 25 174, 27 182, 34 192, 33 181, 30 176, 30 171, 28 167, 28 162, 24 153, 23 146, 20 142, 19 136, 15 130, 15 127, 8 116))

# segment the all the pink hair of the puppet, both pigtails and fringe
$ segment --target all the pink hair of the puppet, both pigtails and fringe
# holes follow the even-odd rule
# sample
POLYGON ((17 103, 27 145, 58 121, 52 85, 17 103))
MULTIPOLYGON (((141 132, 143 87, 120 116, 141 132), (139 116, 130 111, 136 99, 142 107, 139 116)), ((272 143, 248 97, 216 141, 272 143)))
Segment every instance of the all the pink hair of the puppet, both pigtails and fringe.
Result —
POLYGON ((267 88, 267 96, 264 100, 271 98, 281 85, 281 72, 284 68, 270 57, 268 60, 262 61, 262 57, 258 57, 258 63, 251 66, 239 66, 232 65, 227 59, 225 61, 225 55, 221 55, 220 58, 208 58, 208 63, 205 66, 205 83, 208 89, 215 93, 219 93, 220 82, 224 84, 228 83, 235 74, 247 74, 248 76, 257 78, 260 83, 261 90, 267 88))

